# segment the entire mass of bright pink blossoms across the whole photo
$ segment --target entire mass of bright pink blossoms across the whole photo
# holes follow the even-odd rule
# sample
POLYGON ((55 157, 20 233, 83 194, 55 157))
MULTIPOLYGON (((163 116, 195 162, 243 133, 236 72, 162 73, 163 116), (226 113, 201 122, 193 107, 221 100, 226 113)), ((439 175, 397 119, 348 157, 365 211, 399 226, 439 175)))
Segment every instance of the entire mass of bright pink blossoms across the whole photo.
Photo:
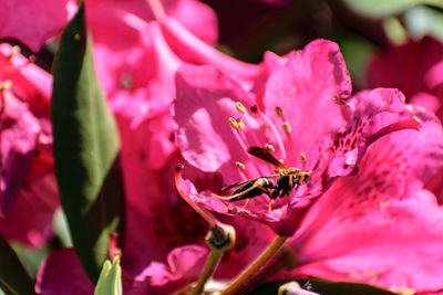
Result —
MULTIPOLYGON (((44 20, 6 21, 11 25, 0 36, 37 51, 56 38, 75 4, 31 2, 48 13, 44 20)), ((424 40, 380 55, 369 75, 375 88, 354 93, 331 41, 284 56, 266 52, 249 64, 215 49, 216 15, 198 1, 84 2, 97 76, 122 141, 125 294, 177 292, 205 265, 208 225, 176 190, 178 162, 187 201, 236 230, 215 280, 236 277, 278 235, 288 238, 297 263, 272 278, 443 291, 442 44, 424 40), (390 56, 410 51, 431 53, 411 69, 390 56), (235 189, 226 186, 276 173, 276 164, 247 152, 251 147, 309 177, 287 196, 229 200, 235 189)), ((59 207, 51 84, 51 74, 0 44, 0 232, 35 247, 53 238, 59 207)), ((275 186, 277 177, 267 179, 275 186)), ((40 294, 93 289, 74 249, 53 250, 40 266, 40 294)))

